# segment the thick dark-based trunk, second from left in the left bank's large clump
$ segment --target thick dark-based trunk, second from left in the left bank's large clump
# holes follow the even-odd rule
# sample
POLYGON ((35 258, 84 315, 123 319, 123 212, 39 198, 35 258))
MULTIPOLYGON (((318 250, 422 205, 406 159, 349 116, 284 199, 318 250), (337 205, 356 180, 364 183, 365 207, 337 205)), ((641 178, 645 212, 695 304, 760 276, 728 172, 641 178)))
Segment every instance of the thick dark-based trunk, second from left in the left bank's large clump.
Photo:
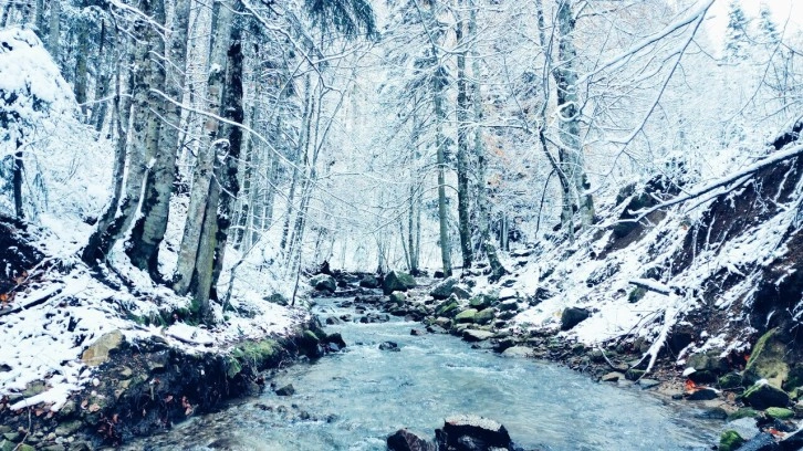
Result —
MULTIPOLYGON (((164 23, 166 20, 164 1, 154 2, 159 8, 153 20, 164 23)), ((152 94, 155 109, 164 120, 159 120, 159 133, 153 143, 152 177, 145 187, 143 216, 137 220, 132 232, 129 256, 132 263, 148 271, 154 280, 161 280, 159 273, 159 245, 165 239, 169 219, 170 197, 176 180, 176 155, 178 153, 179 127, 181 122, 181 97, 185 86, 185 67, 187 61, 187 34, 189 28, 189 0, 178 0, 173 14, 169 46, 159 45, 155 49, 164 54, 168 64, 160 64, 158 83, 167 96, 176 102, 170 103, 159 94, 152 94)))

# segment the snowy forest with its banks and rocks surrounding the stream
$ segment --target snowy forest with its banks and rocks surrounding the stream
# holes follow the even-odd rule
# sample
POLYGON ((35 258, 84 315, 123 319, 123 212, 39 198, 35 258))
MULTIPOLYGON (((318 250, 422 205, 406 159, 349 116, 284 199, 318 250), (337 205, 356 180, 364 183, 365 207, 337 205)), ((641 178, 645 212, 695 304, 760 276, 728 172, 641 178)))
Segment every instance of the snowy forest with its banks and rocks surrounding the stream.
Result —
MULTIPOLYGON (((118 447, 343 354, 347 324, 403 321, 727 424, 755 413, 695 436, 720 450, 799 449, 801 18, 792 0, 0 0, 0 448, 118 447)), ((449 440, 427 445, 486 449, 449 440)))

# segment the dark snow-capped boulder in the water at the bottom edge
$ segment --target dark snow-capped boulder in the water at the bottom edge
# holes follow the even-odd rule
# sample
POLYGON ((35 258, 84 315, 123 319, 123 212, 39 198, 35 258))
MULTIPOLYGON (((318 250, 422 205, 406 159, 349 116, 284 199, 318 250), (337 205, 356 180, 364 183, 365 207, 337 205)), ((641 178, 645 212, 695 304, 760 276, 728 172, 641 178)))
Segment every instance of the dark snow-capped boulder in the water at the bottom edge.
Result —
POLYGON ((473 415, 447 418, 444 428, 435 431, 435 437, 441 450, 513 449, 510 434, 502 424, 473 415))

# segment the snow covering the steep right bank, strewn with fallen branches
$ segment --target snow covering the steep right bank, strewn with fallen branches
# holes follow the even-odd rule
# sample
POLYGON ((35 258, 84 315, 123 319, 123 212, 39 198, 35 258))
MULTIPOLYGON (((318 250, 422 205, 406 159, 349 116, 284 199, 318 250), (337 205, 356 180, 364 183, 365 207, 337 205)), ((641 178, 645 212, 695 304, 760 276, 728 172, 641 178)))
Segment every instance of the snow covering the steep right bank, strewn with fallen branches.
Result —
MULTIPOLYGON (((717 178, 715 181, 702 182, 701 188, 690 187, 687 198, 691 195, 705 195, 715 186, 722 186, 739 177, 752 177, 761 167, 768 164, 781 164, 803 151, 800 145, 789 146, 786 149, 773 153, 765 158, 745 166, 739 159, 731 160, 729 165, 718 168, 719 172, 731 174, 728 177, 717 178), (740 169, 733 167, 741 166, 740 169)), ((794 175, 786 175, 793 179, 794 175)), ((785 183, 790 181, 784 179, 785 183)), ((752 181, 750 182, 752 183, 752 181)), ((749 185, 734 196, 745 195, 752 190, 749 185)), ((752 191, 751 191, 752 192, 752 191)), ((800 199, 803 195, 803 182, 797 181, 791 199, 800 199)), ((611 200, 607 200, 608 202, 611 200)), ((779 200, 775 199, 778 203, 779 200)), ((795 202, 794 200, 792 201, 795 202)), ((784 244, 789 240, 788 230, 794 230, 796 221, 796 204, 781 204, 778 212, 769 216, 754 226, 744 229, 734 229, 729 232, 727 240, 719 237, 698 237, 708 243, 693 255, 693 263, 682 271, 660 271, 660 280, 646 276, 650 268, 664 268, 672 262, 672 255, 686 245, 687 235, 702 212, 711 204, 710 200, 702 202, 695 211, 674 201, 664 202, 667 211, 666 218, 648 229, 637 241, 625 249, 611 251, 605 254, 605 243, 609 233, 597 234, 596 240, 592 233, 578 237, 573 245, 552 244, 546 247, 540 255, 511 276, 515 284, 510 290, 520 292, 524 297, 533 296, 535 291, 544 289, 553 293, 549 297, 521 312, 513 318, 517 327, 540 328, 557 331, 563 310, 567 307, 583 307, 592 312, 590 318, 583 321, 571 331, 560 332, 559 336, 577 340, 585 345, 598 346, 614 340, 633 340, 644 337, 653 347, 645 354, 650 360, 658 354, 671 328, 684 321, 691 312, 705 305, 706 300, 699 297, 716 274, 733 274, 734 281, 723 287, 713 296, 712 306, 723 313, 729 321, 738 323, 738 327, 724 329, 699 331, 698 340, 684 349, 678 358, 691 353, 716 349, 727 355, 731 350, 744 350, 745 343, 754 328, 744 323, 753 294, 762 281, 762 269, 783 261, 789 253, 784 244), (567 250, 570 252, 567 252, 567 250), (597 255, 604 255, 602 258, 597 255), (608 269, 611 276, 596 283, 588 283, 591 274, 605 273, 608 269), (551 274, 541 282, 542 274, 551 274), (636 285, 648 289, 644 296, 630 303, 629 293, 636 285)), ((599 212, 605 217, 603 224, 615 221, 620 208, 602 204, 599 212)), ((701 229, 701 234, 707 233, 701 229)), ((793 314, 803 314, 803 307, 796 308, 793 314)), ((768 319, 769 321, 769 319, 768 319)), ((720 326, 721 327, 721 326, 720 326)))

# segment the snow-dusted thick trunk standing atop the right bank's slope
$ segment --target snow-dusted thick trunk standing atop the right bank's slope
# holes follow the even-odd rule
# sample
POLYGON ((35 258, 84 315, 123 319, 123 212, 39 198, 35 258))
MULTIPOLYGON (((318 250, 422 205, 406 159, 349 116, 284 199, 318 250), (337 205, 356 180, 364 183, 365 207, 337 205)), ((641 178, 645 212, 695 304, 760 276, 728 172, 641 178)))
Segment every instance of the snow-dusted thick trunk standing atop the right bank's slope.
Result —
POLYGON ((594 222, 594 200, 588 193, 591 186, 585 172, 583 148, 580 139, 580 99, 577 96, 577 52, 574 49, 574 15, 571 1, 557 7, 557 56, 552 75, 557 85, 557 119, 561 137, 560 159, 564 172, 570 176, 577 197, 580 220, 583 228, 594 222))

